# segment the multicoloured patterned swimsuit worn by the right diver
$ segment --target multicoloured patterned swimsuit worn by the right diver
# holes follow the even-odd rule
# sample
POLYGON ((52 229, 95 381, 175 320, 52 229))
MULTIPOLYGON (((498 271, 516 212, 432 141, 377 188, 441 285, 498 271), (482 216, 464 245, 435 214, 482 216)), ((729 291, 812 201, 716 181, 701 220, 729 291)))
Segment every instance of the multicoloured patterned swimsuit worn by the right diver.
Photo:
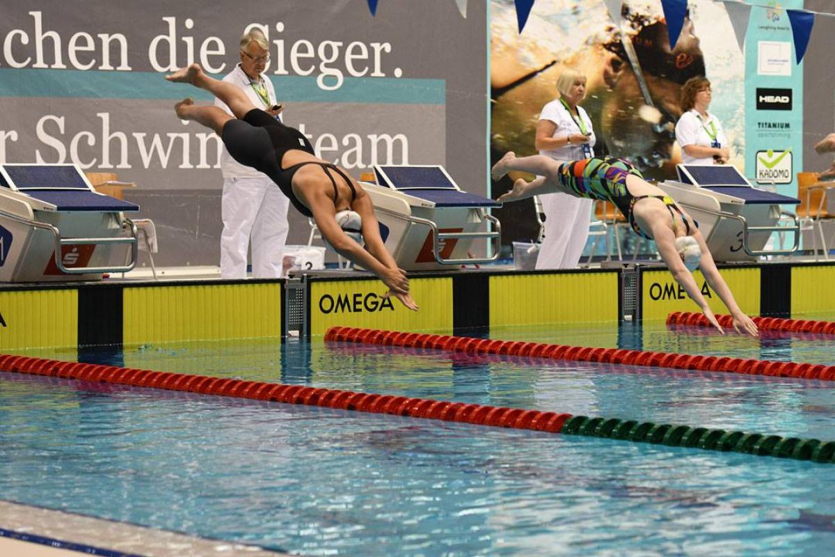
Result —
MULTIPOLYGON (((690 223, 669 195, 638 195, 635 197, 626 189, 626 177, 629 175, 644 178, 640 170, 636 169, 628 160, 616 159, 615 157, 572 160, 559 166, 560 184, 580 197, 609 201, 615 204, 626 217, 635 234, 642 238, 652 240, 649 235, 640 230, 640 226, 635 222, 635 216, 632 215, 632 208, 635 206, 635 201, 647 197, 655 197, 664 201, 664 205, 667 206, 671 215, 675 209, 681 215, 681 220, 687 227, 687 234, 690 234, 690 223)), ((674 218, 674 226, 675 223, 676 219, 674 218)))

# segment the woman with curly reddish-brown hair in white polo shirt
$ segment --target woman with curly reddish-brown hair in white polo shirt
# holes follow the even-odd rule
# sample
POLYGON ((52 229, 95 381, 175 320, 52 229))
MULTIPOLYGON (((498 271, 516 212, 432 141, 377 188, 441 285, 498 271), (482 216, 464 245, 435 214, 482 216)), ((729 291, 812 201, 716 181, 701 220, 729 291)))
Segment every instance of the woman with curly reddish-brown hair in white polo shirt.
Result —
POLYGON ((704 77, 688 79, 681 88, 681 118, 676 124, 676 141, 685 165, 725 165, 728 140, 711 104, 711 82, 704 77))

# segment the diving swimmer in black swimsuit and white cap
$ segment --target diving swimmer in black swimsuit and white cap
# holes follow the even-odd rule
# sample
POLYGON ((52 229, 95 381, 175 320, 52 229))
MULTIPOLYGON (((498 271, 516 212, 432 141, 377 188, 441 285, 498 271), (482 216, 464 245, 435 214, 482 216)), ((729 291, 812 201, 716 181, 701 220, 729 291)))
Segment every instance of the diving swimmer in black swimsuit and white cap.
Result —
POLYGON ((256 109, 243 91, 206 75, 199 64, 180 68, 165 78, 206 89, 222 100, 237 118, 214 106, 195 106, 192 99, 181 100, 175 110, 180 119, 214 129, 235 160, 270 176, 302 215, 316 220, 322 238, 337 253, 377 275, 388 286, 386 296, 417 310, 406 272, 383 246, 371 199, 355 180, 318 159, 298 129, 256 109), (340 225, 337 217, 348 224, 340 225), (364 249, 358 240, 365 241, 364 249))

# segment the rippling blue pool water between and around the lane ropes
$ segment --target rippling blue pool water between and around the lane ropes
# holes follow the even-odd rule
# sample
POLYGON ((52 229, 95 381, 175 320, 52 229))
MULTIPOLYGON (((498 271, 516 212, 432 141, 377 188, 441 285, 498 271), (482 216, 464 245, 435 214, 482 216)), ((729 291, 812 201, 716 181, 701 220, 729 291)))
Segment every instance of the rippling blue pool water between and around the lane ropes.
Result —
MULTIPOLYGON (((835 340, 802 335, 626 325, 491 337, 835 363, 835 340)), ((321 342, 80 356, 835 439, 831 382, 321 342)), ((299 554, 825 554, 835 543, 831 472, 738 453, 0 373, 0 498, 299 554)))

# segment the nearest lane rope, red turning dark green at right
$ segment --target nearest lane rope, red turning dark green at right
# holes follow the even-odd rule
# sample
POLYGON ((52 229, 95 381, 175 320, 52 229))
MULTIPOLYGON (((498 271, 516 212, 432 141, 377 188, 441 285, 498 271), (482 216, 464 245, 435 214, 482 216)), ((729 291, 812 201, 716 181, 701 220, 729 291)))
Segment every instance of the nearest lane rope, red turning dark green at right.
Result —
POLYGON ((154 372, 129 367, 60 362, 6 354, 0 355, 0 370, 82 382, 107 382, 133 387, 195 392, 220 397, 251 398, 287 404, 306 404, 307 406, 472 423, 498 428, 529 429, 671 447, 733 451, 757 456, 835 463, 835 442, 822 442, 819 439, 783 438, 779 435, 692 428, 685 425, 637 422, 620 418, 589 418, 569 413, 524 408, 453 403, 431 398, 398 397, 185 373, 154 372))

